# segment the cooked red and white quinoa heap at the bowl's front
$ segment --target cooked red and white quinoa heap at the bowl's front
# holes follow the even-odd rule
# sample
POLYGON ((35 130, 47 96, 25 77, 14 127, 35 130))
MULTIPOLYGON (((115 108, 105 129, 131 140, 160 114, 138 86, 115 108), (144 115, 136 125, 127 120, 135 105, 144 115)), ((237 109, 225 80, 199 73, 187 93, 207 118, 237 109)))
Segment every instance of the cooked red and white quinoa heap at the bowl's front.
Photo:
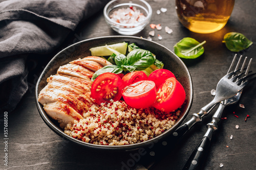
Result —
POLYGON ((139 143, 171 128, 180 111, 164 113, 155 108, 135 109, 123 101, 92 105, 83 119, 65 127, 65 133, 93 144, 139 143))

